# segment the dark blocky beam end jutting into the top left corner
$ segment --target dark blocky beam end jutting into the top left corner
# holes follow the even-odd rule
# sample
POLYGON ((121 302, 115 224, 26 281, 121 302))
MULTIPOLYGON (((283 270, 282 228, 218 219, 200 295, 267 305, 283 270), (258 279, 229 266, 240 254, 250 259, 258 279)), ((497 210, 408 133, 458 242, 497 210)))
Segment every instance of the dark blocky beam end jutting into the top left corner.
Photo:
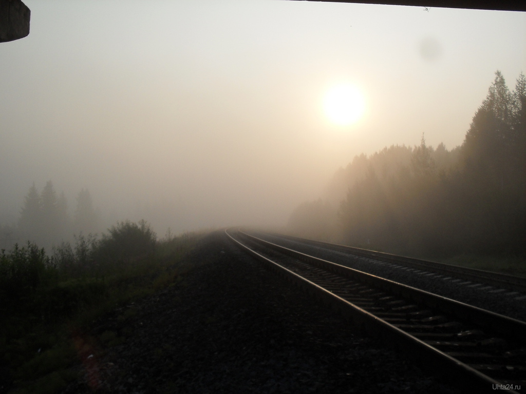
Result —
POLYGON ((31 11, 21 0, 0 0, 0 43, 29 34, 31 11))

